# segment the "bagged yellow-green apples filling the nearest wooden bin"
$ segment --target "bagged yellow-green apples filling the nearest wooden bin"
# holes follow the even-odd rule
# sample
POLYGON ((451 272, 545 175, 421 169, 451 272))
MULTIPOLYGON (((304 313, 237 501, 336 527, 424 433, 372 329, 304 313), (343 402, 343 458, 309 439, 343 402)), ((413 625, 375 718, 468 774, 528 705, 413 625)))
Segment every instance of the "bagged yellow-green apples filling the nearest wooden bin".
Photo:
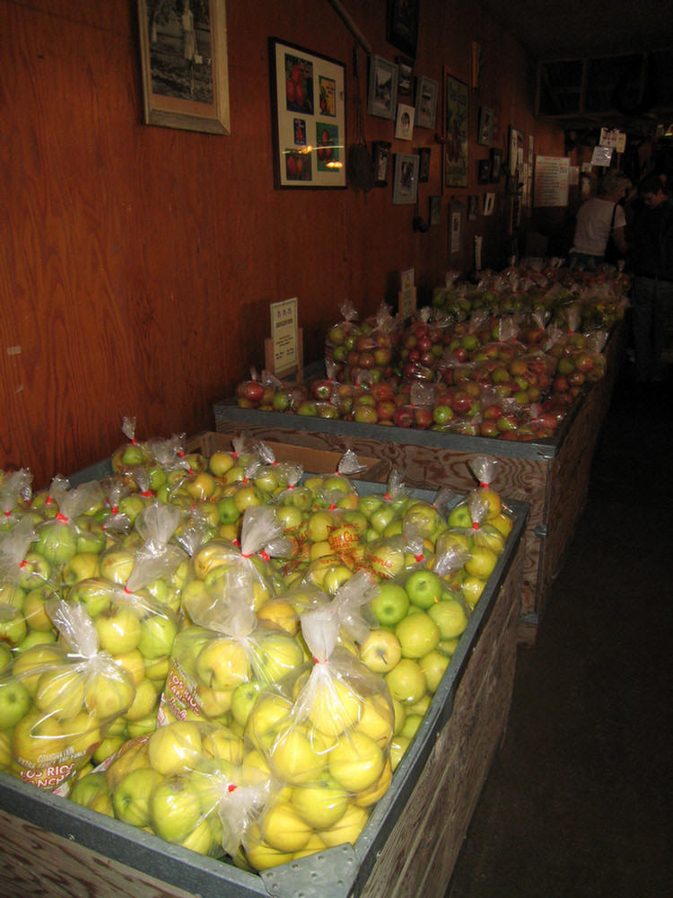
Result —
POLYGON ((371 492, 264 444, 128 442, 0 503, 0 770, 263 870, 354 841, 423 725, 513 519, 371 492))

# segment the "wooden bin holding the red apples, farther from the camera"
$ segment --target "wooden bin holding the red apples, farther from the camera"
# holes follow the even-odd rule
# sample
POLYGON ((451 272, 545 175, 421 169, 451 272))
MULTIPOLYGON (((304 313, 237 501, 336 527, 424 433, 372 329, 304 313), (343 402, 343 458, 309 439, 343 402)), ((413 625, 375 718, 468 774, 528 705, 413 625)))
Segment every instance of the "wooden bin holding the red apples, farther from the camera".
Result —
POLYGON ((233 399, 215 403, 215 427, 231 436, 246 434, 253 440, 341 452, 353 449, 384 458, 415 487, 446 485, 465 492, 476 485, 468 462, 477 454, 496 458, 494 489, 530 506, 519 632, 520 642, 532 645, 549 586, 563 563, 587 496, 591 460, 623 352, 624 328, 618 324, 604 350, 605 375, 581 392, 555 436, 536 442, 242 409, 233 399))

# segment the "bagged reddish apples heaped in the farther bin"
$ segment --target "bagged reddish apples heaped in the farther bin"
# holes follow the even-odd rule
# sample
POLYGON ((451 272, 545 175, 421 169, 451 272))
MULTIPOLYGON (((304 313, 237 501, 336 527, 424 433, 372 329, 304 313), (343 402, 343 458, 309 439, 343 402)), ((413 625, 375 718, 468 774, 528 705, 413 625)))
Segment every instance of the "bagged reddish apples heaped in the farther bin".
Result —
POLYGON ((604 374, 602 350, 624 314, 621 278, 508 270, 476 286, 450 277, 432 306, 407 322, 382 304, 361 325, 345 304, 344 320, 327 333, 324 373, 293 384, 255 374, 239 383, 237 402, 363 424, 546 439, 584 385, 604 374))

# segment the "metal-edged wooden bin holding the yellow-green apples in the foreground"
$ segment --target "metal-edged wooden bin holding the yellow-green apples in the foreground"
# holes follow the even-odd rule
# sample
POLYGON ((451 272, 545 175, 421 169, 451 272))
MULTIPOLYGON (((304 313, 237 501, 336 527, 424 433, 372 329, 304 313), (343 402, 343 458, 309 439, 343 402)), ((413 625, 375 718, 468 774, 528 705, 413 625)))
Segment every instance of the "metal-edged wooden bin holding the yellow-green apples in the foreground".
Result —
MULTIPOLYGON (((358 492, 383 489, 358 484, 358 492)), ((441 898, 510 709, 529 507, 508 505, 514 524, 505 550, 388 792, 354 845, 252 874, 0 773, 0 894, 441 898)))

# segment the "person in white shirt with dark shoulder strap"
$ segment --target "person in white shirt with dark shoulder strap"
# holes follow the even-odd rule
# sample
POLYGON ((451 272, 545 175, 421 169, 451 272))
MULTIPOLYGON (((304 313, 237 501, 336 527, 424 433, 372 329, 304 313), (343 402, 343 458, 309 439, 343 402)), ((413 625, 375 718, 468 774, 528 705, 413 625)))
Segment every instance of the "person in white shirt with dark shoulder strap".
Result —
POLYGON ((587 199, 577 212, 575 235, 568 260, 572 269, 595 269, 605 257, 612 239, 616 249, 626 252, 626 216, 619 204, 632 183, 619 172, 607 172, 599 180, 598 196, 587 199))

